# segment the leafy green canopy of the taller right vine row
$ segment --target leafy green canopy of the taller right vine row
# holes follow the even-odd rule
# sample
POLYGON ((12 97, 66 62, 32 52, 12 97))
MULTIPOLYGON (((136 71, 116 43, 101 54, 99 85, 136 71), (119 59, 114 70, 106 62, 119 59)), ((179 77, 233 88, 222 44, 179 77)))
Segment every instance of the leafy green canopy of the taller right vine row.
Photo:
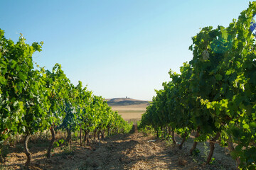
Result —
POLYGON ((139 128, 170 125, 181 135, 198 129, 201 142, 220 132, 224 147, 236 144, 232 155, 240 169, 256 169, 255 14, 250 2, 227 28, 209 26, 194 36, 193 59, 181 74, 169 72, 171 81, 156 91, 139 128))

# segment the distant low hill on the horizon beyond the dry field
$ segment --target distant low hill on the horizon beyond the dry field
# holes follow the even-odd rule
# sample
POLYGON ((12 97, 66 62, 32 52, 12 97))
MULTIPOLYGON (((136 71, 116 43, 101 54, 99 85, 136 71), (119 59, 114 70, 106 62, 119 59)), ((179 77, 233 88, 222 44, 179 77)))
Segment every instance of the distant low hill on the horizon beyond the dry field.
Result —
POLYGON ((107 99, 107 104, 109 106, 129 106, 129 105, 139 105, 139 104, 149 105, 149 101, 136 100, 133 98, 110 98, 110 99, 107 99))

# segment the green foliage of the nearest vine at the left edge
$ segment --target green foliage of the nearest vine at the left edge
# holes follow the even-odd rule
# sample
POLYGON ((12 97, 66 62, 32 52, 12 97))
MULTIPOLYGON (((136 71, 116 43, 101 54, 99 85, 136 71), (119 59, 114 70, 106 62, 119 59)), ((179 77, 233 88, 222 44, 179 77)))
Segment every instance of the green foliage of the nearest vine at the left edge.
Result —
POLYGON ((21 35, 14 43, 4 37, 4 30, 0 30, 0 143, 10 134, 25 131, 19 125, 23 124, 29 110, 25 96, 32 86, 32 55, 40 51, 43 44, 33 47, 25 40, 21 35))

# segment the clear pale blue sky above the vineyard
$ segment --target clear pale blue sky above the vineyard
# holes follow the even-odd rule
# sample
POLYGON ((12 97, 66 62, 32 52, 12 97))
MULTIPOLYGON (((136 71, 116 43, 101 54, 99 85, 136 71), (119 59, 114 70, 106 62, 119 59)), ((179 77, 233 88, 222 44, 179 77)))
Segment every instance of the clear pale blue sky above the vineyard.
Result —
POLYGON ((55 63, 104 98, 151 100, 192 58, 191 37, 205 26, 228 26, 246 0, 0 0, 6 38, 43 41, 33 55, 41 67, 55 63))

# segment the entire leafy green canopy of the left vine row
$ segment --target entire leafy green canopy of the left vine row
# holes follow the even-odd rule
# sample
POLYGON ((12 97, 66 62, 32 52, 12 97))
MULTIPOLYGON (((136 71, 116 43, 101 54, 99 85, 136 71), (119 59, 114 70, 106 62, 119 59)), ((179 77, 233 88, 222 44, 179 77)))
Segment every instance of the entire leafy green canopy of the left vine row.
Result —
POLYGON ((33 52, 40 52, 43 42, 25 41, 23 35, 16 43, 8 40, 0 29, 0 150, 11 135, 33 135, 49 128, 75 134, 80 128, 129 132, 132 124, 112 111, 104 98, 83 88, 82 82, 71 84, 60 64, 51 71, 34 67, 33 52))

